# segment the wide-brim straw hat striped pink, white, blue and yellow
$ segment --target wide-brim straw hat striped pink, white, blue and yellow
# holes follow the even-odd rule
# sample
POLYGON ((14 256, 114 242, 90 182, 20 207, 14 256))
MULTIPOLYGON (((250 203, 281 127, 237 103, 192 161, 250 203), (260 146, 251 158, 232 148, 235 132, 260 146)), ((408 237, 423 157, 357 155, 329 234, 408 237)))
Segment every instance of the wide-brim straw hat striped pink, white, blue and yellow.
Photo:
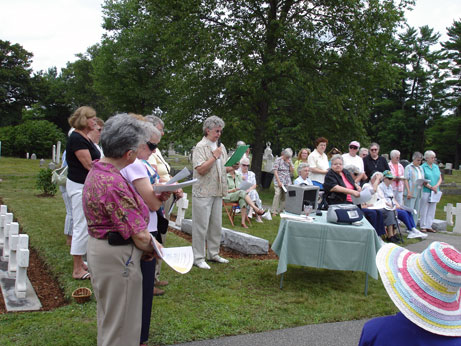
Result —
POLYGON ((386 244, 376 255, 387 293, 410 321, 439 335, 461 336, 461 253, 433 242, 421 254, 386 244))

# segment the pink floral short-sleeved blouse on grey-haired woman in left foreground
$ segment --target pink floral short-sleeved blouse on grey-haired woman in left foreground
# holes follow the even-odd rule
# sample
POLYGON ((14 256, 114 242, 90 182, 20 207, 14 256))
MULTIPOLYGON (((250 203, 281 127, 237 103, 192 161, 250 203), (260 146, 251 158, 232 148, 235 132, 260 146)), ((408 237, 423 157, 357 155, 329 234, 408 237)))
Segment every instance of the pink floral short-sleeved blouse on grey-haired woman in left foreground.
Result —
POLYGON ((83 211, 88 234, 103 239, 109 231, 124 239, 147 229, 149 209, 119 170, 95 161, 83 187, 83 211))

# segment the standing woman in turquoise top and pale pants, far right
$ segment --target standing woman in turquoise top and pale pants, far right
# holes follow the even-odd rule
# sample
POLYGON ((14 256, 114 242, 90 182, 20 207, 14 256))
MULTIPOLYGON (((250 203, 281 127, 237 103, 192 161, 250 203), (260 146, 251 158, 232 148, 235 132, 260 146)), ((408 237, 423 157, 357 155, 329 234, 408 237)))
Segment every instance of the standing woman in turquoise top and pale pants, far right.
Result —
POLYGON ((433 232, 432 222, 435 217, 436 202, 431 202, 431 194, 439 191, 439 186, 442 184, 442 176, 440 174, 439 166, 435 163, 435 153, 428 150, 424 153, 424 162, 421 166, 424 172, 424 179, 429 180, 428 183, 423 184, 423 194, 421 196, 421 206, 419 208, 419 225, 421 232, 433 232))

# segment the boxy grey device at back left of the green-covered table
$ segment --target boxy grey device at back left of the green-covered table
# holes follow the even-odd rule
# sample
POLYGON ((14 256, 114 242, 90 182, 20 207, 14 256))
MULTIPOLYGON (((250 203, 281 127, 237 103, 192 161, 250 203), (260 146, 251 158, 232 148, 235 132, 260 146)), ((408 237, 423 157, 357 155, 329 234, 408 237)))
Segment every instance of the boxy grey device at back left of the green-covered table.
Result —
POLYGON ((311 185, 288 185, 286 194, 285 210, 288 213, 300 215, 304 206, 317 210, 319 199, 319 187, 311 185))

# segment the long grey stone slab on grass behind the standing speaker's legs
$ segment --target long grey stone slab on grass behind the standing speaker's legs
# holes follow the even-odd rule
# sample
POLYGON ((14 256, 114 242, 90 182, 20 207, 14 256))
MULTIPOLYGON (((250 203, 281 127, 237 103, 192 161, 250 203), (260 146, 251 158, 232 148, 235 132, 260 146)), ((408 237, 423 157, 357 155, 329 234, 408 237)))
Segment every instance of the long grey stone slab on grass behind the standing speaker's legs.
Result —
MULTIPOLYGON (((182 220, 181 231, 192 235, 191 219, 182 220)), ((269 252, 268 240, 228 228, 222 229, 221 245, 246 255, 266 255, 269 252)))

